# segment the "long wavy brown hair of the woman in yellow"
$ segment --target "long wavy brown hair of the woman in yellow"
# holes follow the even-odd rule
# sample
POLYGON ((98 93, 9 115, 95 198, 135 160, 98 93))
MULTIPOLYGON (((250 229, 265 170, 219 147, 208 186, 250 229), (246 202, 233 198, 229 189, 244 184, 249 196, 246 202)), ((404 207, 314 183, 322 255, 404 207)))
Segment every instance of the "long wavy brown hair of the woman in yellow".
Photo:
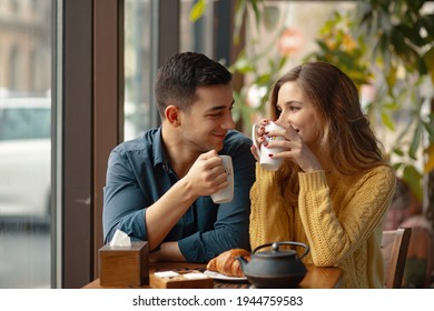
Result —
MULTIPOLYGON (((279 117, 276 103, 280 87, 289 81, 298 84, 318 112, 318 146, 329 160, 331 170, 348 175, 387 164, 349 77, 326 62, 307 62, 294 68, 274 84, 268 107, 272 120, 279 117)), ((299 168, 289 161, 285 163, 278 173, 279 184, 296 199, 299 168)))

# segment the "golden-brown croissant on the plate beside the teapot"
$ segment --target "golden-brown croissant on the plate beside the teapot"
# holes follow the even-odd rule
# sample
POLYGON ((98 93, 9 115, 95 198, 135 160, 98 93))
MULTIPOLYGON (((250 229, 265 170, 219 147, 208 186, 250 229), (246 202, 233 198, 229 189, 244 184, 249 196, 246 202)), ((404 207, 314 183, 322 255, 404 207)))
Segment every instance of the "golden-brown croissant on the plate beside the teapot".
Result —
POLYGON ((217 271, 228 277, 244 277, 241 265, 236 257, 241 255, 250 260, 250 253, 244 249, 231 249, 211 259, 207 264, 207 270, 217 271))

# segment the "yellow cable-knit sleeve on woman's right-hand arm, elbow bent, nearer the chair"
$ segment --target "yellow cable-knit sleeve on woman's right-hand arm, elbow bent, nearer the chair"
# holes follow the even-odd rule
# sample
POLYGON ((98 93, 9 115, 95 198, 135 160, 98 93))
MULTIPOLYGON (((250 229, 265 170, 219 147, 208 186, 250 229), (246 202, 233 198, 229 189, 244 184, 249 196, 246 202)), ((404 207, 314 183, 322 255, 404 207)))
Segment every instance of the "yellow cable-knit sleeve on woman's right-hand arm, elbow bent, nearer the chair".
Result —
POLYGON ((342 177, 332 194, 324 171, 299 173, 298 179, 299 214, 312 259, 320 267, 337 265, 366 242, 395 189, 395 173, 388 167, 362 177, 342 177))

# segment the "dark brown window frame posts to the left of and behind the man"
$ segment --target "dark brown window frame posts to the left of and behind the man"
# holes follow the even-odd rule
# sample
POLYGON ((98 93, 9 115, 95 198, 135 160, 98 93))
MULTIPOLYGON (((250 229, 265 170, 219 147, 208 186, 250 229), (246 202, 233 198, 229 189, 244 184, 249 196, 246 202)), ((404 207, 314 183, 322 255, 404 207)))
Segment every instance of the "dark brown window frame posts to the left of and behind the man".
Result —
MULTIPOLYGON (((152 21, 156 72, 179 49, 179 1, 151 1, 152 17, 158 17, 152 21)), ((62 207, 55 215, 61 227, 53 230, 57 239, 61 232, 61 242, 56 243, 56 261, 61 264, 56 271, 61 277, 56 287, 81 288, 99 275, 107 160, 124 137, 124 0, 63 0, 61 6, 62 84, 55 97, 62 106, 61 113, 53 112, 58 118, 53 131, 61 129, 53 139, 61 143, 61 154, 53 153, 58 161, 52 161, 61 171, 53 173, 58 184, 53 200, 62 207)), ((157 110, 151 113, 151 124, 157 126, 157 110)))

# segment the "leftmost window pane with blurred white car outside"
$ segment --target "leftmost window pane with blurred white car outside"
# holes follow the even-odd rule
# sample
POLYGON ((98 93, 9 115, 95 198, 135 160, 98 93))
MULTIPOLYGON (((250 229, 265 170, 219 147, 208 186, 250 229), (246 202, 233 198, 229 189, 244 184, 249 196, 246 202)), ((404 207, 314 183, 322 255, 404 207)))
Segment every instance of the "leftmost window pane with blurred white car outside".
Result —
POLYGON ((51 288, 51 2, 0 1, 0 288, 51 288))

